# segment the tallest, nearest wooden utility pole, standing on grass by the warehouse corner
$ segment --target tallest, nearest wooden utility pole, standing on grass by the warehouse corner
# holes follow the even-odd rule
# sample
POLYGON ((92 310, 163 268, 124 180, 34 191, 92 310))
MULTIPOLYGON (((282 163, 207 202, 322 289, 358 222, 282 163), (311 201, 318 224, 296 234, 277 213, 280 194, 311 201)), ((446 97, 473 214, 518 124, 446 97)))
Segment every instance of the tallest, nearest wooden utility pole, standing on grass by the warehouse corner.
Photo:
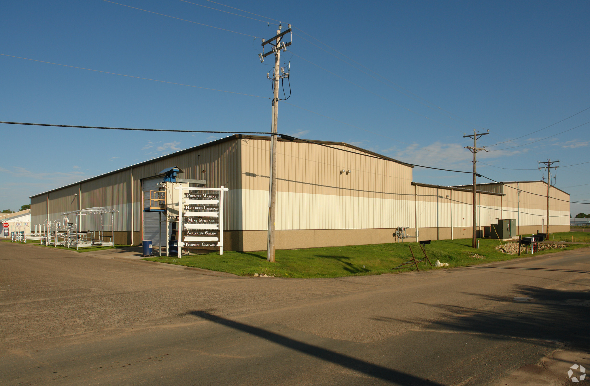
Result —
MULTIPOLYGON (((278 81, 283 77, 289 77, 289 72, 284 72, 280 68, 281 50, 287 51, 291 42, 284 43, 283 37, 291 33, 291 25, 287 25, 286 31, 281 32, 281 25, 278 26, 277 35, 265 41, 262 39, 263 52, 258 54, 261 62, 268 55, 274 54, 274 72, 273 78, 273 103, 272 103, 272 123, 270 135, 270 182, 268 186, 268 240, 267 240, 267 260, 274 263, 274 229, 276 220, 276 203, 277 203, 277 128, 278 128, 278 81), (274 42, 274 43, 273 43, 274 42), (271 51, 264 53, 264 46, 270 44, 271 51)), ((270 79, 269 74, 266 75, 270 79)))

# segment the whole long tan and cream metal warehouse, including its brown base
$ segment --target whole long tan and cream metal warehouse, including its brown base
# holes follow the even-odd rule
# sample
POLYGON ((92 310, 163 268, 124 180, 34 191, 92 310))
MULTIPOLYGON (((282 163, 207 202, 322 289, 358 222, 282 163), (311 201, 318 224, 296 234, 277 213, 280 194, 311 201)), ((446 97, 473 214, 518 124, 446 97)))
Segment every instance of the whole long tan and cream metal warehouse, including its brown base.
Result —
MULTIPOLYGON (((345 143, 314 142, 278 138, 277 249, 389 243, 399 226, 411 235, 417 229, 419 239, 471 237, 473 187, 415 183, 411 164, 345 143)), ((269 159, 269 137, 222 138, 31 196, 31 223, 109 207, 118 211, 115 242, 137 245, 153 238, 152 231, 142 235, 143 192, 153 189, 160 171, 178 167, 182 179, 229 189, 224 249, 264 250, 269 159)), ((478 184, 477 189, 478 229, 516 219, 525 234, 546 223, 545 182, 478 184)), ((568 231, 569 194, 550 187, 550 197, 550 230, 568 231)), ((97 226, 94 220, 81 221, 83 230, 97 226)))

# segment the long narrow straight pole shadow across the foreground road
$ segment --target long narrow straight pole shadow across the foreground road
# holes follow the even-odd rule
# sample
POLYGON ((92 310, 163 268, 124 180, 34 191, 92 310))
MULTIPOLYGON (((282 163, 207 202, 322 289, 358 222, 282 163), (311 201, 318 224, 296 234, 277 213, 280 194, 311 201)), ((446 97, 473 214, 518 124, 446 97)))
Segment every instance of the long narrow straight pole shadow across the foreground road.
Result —
POLYGON ((288 338, 287 336, 276 334, 266 329, 250 326, 240 322, 235 322, 230 319, 222 318, 211 314, 207 311, 191 311, 188 315, 195 315, 199 318, 206 319, 217 324, 221 324, 238 331, 245 332, 260 338, 267 339, 268 341, 279 344, 283 347, 294 349, 303 354, 311 355, 319 359, 323 359, 327 362, 340 365, 352 369, 354 371, 362 372, 363 374, 370 375, 371 377, 380 378, 385 381, 395 382, 399 385, 416 385, 416 386, 434 386, 441 385, 434 381, 425 380, 423 378, 415 377, 414 375, 407 374, 405 372, 396 371, 380 365, 375 365, 369 362, 362 361, 361 359, 349 357, 345 354, 339 354, 338 352, 331 351, 315 345, 310 345, 295 339, 288 338))

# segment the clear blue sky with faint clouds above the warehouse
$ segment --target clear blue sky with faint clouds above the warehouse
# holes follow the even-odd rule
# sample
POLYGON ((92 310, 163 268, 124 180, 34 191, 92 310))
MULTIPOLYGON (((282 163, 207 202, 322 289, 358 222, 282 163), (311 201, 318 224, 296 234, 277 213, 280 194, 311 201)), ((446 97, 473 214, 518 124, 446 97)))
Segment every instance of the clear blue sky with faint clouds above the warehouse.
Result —
MULTIPOLYGON (((590 124, 573 128, 590 121, 590 110, 579 113, 590 107, 588 2, 222 1, 261 17, 191 2, 2 2, 1 120, 268 131, 272 60, 260 63, 254 37, 272 37, 276 19, 295 33, 281 55, 292 94, 280 104, 280 133, 470 170, 463 133, 489 129, 478 144, 497 151, 479 153, 478 171, 504 181, 539 180, 537 161, 548 158, 590 161, 590 124)), ((15 125, 0 136, 0 209, 13 210, 31 194, 219 137, 15 125)), ((414 169, 417 182, 470 178, 414 169)), ((556 186, 590 200, 590 163, 560 168, 556 186)), ((572 204, 578 212, 590 204, 572 204)))

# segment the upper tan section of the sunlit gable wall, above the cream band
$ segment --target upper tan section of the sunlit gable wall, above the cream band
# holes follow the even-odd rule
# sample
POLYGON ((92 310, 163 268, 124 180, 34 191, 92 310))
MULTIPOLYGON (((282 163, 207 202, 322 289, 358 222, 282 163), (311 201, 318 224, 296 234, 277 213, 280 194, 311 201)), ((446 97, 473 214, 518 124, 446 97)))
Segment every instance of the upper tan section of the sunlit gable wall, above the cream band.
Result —
MULTIPOLYGON (((243 189, 268 190, 270 141, 242 139, 241 142, 243 189)), ((277 192, 402 200, 413 195, 411 167, 366 157, 350 147, 330 146, 359 155, 317 144, 279 140, 277 192)))

